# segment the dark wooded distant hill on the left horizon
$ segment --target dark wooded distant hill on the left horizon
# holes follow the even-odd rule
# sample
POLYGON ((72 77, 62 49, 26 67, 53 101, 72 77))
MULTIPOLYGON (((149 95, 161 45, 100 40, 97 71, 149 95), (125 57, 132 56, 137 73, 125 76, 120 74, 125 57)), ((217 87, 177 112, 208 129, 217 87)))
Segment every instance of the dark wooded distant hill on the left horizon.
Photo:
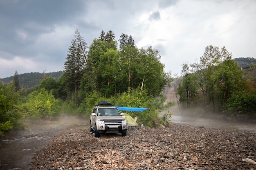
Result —
MULTIPOLYGON (((45 75, 47 77, 52 76, 54 79, 57 80, 59 79, 59 77, 61 77, 62 73, 63 73, 62 71, 58 71, 58 72, 45 73, 45 75)), ((0 81, 3 82, 4 84, 9 84, 10 82, 13 81, 13 78, 14 78, 14 75, 11 77, 2 78, 0 79, 0 81)), ((34 87, 36 85, 40 85, 41 79, 44 78, 44 74, 39 72, 23 73, 23 74, 19 74, 18 78, 19 78, 20 87, 22 88, 24 86, 27 89, 27 88, 34 87)))

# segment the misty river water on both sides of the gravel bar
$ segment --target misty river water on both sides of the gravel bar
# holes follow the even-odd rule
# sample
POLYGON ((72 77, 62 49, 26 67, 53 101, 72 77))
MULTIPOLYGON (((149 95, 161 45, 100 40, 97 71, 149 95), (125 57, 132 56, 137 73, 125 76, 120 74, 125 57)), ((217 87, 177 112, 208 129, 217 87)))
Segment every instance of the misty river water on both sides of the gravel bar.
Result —
MULTIPOLYGON (((210 128, 237 129, 256 132, 256 124, 229 122, 217 119, 173 115, 172 121, 210 128)), ((45 147, 63 130, 84 126, 89 128, 89 120, 63 116, 55 122, 30 124, 26 130, 13 131, 0 138, 0 170, 29 170, 35 152, 45 147)))

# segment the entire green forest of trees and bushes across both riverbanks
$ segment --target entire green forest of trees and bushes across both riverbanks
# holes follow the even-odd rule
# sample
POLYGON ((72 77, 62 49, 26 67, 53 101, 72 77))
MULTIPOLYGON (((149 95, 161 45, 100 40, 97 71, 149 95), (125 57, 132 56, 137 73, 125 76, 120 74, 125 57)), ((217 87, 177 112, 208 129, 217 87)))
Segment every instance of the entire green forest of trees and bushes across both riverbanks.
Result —
POLYGON ((88 46, 76 30, 67 51, 63 71, 44 74, 38 85, 20 86, 17 71, 13 81, 0 81, 0 135, 24 128, 25 121, 54 120, 62 114, 89 117, 101 100, 150 108, 129 114, 152 127, 167 126, 172 112, 166 108, 176 103, 180 109, 191 110, 191 115, 256 117, 254 60, 245 59, 252 61, 247 68, 252 74, 247 75, 225 46, 207 46, 199 63, 183 64, 178 78, 164 71, 157 49, 139 49, 132 36, 124 33, 117 41, 111 30, 101 31, 88 46), (177 101, 166 101, 162 92, 173 79, 178 81, 177 101))

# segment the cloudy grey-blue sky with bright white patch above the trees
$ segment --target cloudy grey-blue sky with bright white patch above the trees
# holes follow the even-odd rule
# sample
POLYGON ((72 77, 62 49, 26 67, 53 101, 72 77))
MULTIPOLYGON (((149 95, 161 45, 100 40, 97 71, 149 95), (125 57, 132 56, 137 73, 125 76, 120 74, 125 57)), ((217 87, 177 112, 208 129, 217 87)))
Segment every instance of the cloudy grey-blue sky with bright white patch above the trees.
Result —
POLYGON ((208 45, 256 57, 255 18, 256 0, 0 0, 0 78, 63 70, 76 29, 88 45, 101 30, 132 35, 180 75, 208 45))

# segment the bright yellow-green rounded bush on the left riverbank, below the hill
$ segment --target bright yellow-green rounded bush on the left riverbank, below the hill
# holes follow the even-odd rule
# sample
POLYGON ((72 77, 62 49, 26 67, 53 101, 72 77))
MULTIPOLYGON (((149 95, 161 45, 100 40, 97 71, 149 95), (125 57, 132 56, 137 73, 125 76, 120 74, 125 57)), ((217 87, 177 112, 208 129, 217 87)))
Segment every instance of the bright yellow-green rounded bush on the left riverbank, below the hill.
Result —
POLYGON ((44 88, 30 93, 22 109, 27 119, 51 119, 59 115, 59 101, 44 88))

